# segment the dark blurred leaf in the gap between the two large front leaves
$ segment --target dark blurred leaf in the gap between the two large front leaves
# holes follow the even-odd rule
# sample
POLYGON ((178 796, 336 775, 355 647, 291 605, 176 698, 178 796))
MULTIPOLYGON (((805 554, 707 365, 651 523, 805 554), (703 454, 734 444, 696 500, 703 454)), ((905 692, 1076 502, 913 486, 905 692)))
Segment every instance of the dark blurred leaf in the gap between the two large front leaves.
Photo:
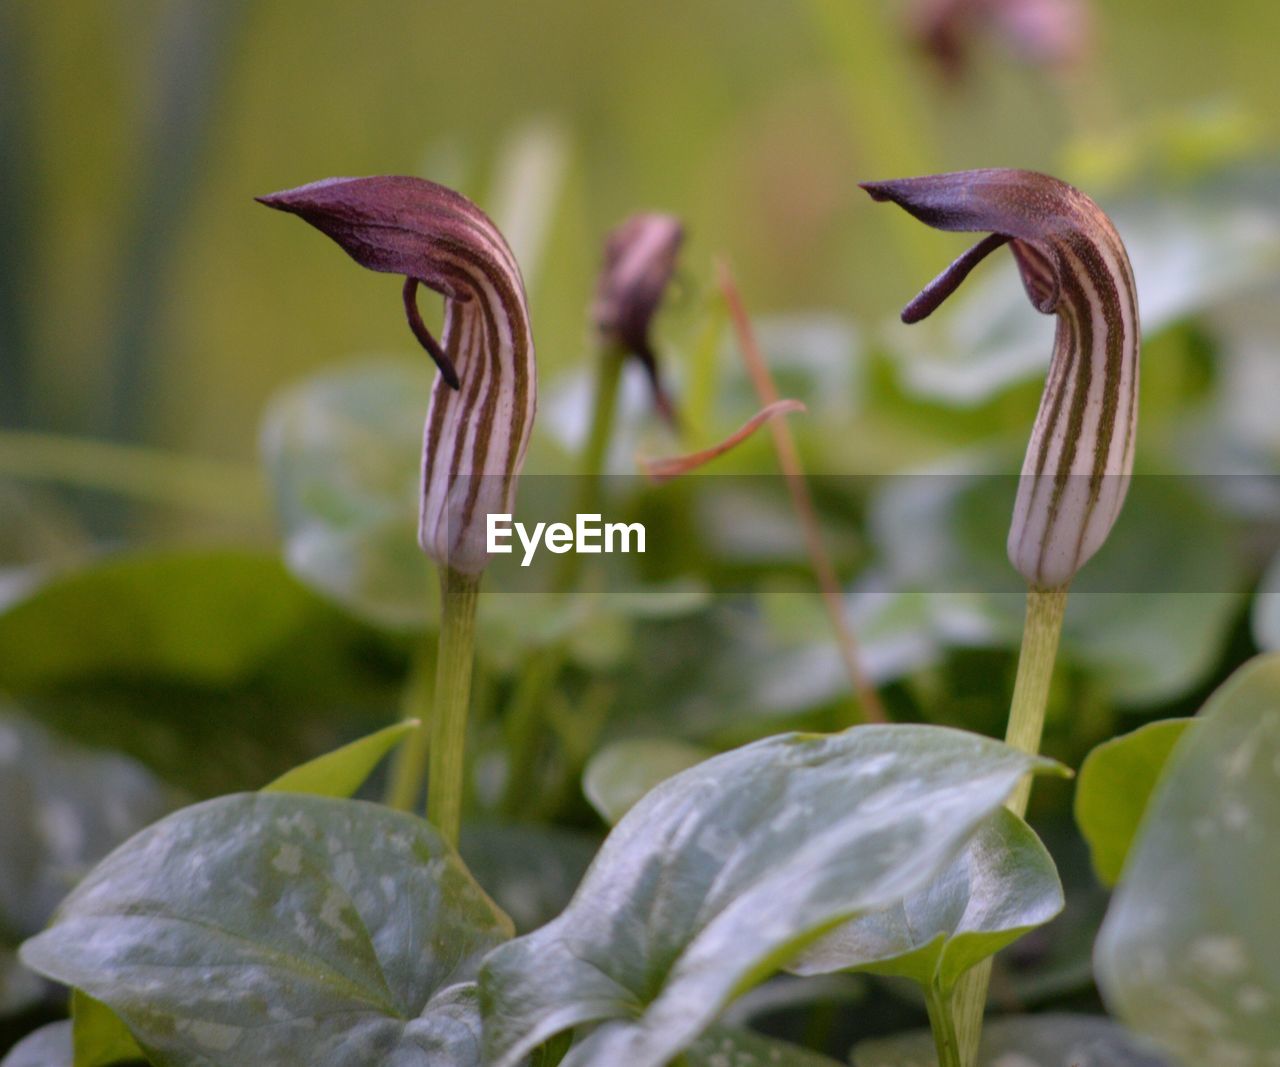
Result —
POLYGON ((564 910, 599 844, 593 834, 561 826, 468 820, 458 852, 516 930, 525 933, 564 910))

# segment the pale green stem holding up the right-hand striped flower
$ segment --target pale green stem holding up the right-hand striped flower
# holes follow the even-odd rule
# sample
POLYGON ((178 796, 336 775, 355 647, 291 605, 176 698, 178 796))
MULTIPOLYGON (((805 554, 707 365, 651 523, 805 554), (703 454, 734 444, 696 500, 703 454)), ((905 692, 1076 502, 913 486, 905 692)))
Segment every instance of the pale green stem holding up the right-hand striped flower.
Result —
MULTIPOLYGON (((1039 752, 1041 734, 1044 732, 1044 709, 1048 705, 1048 686, 1053 677, 1053 660, 1057 658, 1065 613, 1065 586, 1032 589, 1027 594, 1023 647, 1018 656, 1018 678, 1014 682, 1014 700, 1009 710, 1009 729, 1005 732, 1005 741, 1023 752, 1039 752)), ((1006 807, 1018 816, 1025 815, 1030 793, 1032 778, 1027 775, 1009 798, 1006 807)), ((982 1016, 987 1006, 991 960, 986 960, 965 974, 956 985, 952 1012, 959 1038, 960 1067, 973 1067, 978 1061, 982 1016)))

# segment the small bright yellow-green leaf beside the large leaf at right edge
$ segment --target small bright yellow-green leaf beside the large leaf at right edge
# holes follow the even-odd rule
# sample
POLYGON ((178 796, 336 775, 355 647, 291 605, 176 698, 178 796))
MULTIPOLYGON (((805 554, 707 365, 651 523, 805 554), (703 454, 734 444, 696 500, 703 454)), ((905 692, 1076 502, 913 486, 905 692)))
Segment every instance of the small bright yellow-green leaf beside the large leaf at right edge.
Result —
POLYGON ((1164 719, 1106 741, 1089 752, 1075 787, 1075 821, 1089 843, 1093 870, 1120 880, 1138 824, 1169 754, 1192 719, 1164 719))

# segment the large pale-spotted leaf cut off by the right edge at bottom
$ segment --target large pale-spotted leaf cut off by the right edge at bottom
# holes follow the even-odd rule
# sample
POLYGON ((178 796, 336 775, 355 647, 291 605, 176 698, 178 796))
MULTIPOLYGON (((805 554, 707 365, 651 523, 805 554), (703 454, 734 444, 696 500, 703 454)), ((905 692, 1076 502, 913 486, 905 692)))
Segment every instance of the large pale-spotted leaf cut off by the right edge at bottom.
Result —
POLYGON ((1242 667, 1161 775, 1094 951, 1107 1007, 1187 1067, 1280 1049, 1280 655, 1242 667))

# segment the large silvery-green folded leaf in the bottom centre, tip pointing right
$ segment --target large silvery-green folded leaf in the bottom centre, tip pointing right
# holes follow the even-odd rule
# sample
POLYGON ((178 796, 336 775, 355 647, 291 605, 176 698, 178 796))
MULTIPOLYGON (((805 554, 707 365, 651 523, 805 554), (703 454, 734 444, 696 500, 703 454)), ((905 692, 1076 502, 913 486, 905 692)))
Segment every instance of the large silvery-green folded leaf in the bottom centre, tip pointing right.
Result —
POLYGON ((922 888, 1028 771, 936 727, 783 734, 667 779, 618 823, 566 911, 485 961, 485 1044, 511 1067, 626 1020, 564 1067, 658 1067, 836 924, 922 888))

